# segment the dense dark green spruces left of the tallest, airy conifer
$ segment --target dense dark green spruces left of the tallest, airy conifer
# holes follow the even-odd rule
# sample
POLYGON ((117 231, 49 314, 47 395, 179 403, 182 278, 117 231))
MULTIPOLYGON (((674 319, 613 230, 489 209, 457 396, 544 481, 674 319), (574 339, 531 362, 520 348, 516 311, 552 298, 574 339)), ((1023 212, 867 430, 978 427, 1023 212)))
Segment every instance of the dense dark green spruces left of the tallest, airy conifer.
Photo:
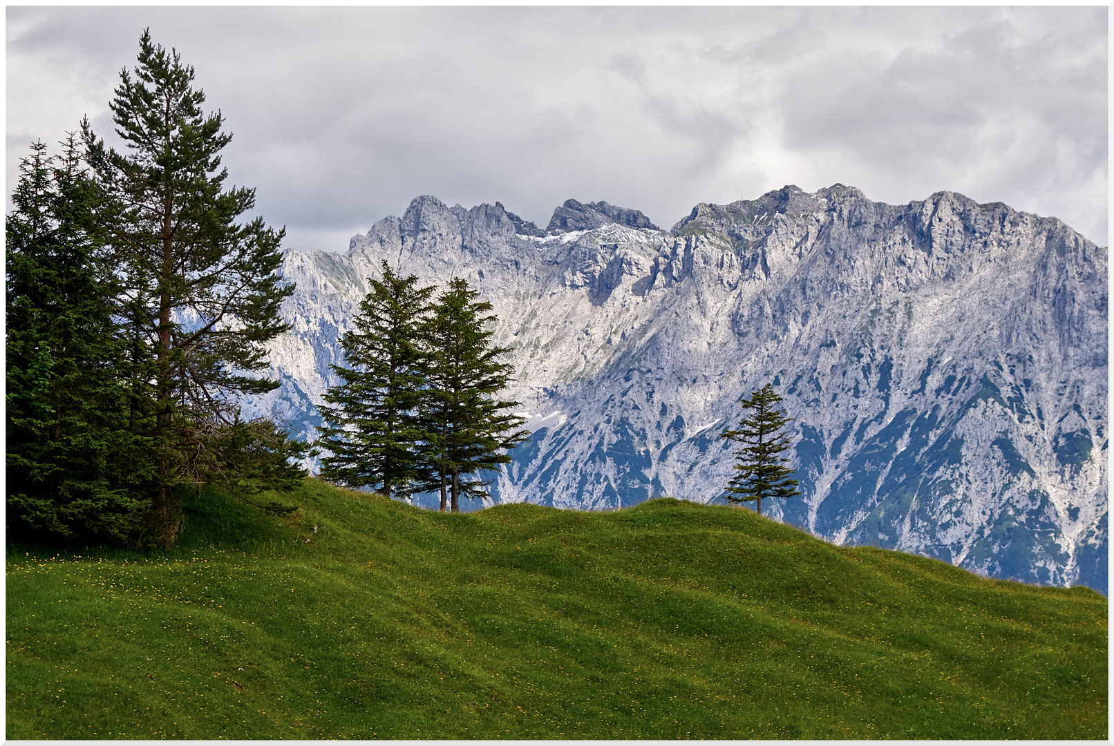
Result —
POLYGON ((153 462, 116 370, 98 190, 74 137, 63 145, 60 158, 31 146, 6 220, 9 536, 125 541, 149 508, 153 462))

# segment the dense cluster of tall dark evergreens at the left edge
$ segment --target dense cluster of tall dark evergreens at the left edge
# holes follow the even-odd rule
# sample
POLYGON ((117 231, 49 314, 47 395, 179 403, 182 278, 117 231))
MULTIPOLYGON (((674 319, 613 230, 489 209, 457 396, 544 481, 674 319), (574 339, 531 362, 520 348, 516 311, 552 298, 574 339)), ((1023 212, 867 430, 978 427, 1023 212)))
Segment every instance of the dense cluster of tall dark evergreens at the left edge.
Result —
POLYGON ((235 403, 278 385, 253 374, 287 330, 283 232, 238 222, 254 190, 226 186, 232 136, 203 112, 193 68, 147 32, 139 47, 109 105, 125 150, 86 120, 60 155, 37 143, 20 164, 6 220, 8 518, 169 546, 182 489, 248 501, 290 489, 309 446, 235 403))

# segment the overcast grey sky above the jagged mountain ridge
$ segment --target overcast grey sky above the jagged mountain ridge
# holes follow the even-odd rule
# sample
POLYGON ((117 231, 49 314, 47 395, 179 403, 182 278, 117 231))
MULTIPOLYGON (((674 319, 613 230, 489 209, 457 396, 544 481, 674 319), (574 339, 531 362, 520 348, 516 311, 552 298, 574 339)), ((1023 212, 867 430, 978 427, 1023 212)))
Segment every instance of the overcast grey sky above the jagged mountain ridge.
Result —
POLYGON ((1107 244, 1107 8, 7 8, 7 189, 30 141, 174 47, 287 247, 431 194, 545 227, 573 197, 664 228, 795 184, 934 192, 1107 244))

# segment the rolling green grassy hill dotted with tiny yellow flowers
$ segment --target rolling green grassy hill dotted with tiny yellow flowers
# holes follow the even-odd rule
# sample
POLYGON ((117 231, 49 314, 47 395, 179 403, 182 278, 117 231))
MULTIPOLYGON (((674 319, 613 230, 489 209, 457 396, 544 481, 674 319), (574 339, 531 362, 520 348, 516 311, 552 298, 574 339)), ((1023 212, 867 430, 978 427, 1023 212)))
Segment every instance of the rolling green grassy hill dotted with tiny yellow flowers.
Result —
POLYGON ((7 737, 1107 737, 1086 588, 671 499, 291 501, 198 495, 168 553, 9 543, 7 737))

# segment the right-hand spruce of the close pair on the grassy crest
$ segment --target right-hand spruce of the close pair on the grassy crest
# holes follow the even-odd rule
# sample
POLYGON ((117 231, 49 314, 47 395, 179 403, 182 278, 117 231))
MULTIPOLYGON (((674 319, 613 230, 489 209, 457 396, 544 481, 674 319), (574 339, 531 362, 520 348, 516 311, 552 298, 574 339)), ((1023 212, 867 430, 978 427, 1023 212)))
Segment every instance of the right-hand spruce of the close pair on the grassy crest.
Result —
POLYGON ((462 278, 453 278, 433 306, 426 325, 428 345, 426 387, 421 415, 427 433, 422 446, 423 488, 438 490, 441 510, 460 510, 460 497, 480 498, 490 484, 478 473, 510 461, 500 450, 528 439, 519 428, 522 418, 510 410, 518 402, 494 396, 514 375, 510 363, 499 362, 509 352, 491 344, 495 316, 491 304, 477 302, 479 293, 462 278))

